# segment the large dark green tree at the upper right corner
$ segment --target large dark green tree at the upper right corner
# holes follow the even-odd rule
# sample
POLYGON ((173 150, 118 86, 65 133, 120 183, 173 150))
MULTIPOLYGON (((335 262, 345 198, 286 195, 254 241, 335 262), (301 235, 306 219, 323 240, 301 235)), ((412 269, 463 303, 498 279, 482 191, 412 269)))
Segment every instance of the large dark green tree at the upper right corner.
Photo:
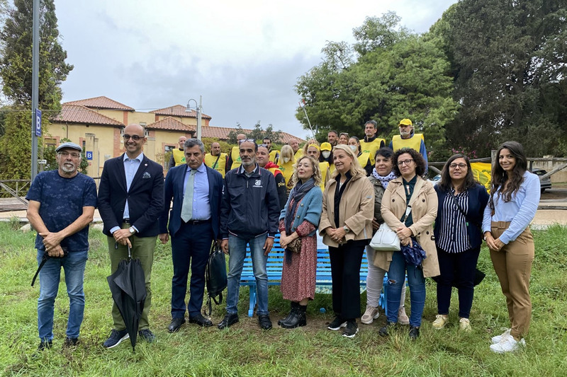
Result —
POLYGON ((488 156, 507 139, 532 156, 567 151, 563 0, 462 0, 430 30, 451 59, 461 110, 449 143, 488 156))

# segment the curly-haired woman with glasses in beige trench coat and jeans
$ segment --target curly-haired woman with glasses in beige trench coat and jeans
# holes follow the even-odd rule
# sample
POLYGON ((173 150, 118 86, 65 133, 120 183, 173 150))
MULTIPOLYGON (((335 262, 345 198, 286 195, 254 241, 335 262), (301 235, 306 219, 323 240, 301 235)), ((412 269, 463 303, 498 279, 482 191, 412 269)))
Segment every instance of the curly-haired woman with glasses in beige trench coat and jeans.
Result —
POLYGON ((437 250, 433 237, 433 221, 437 216, 437 195, 431 182, 423 179, 425 160, 414 149, 402 148, 393 156, 394 173, 397 178, 386 187, 382 199, 381 213, 386 224, 398 234, 401 245, 411 245, 417 240, 427 257, 420 266, 406 262, 401 251, 388 253, 388 306, 386 326, 379 330, 382 336, 398 323, 398 307, 401 290, 405 289, 408 273, 410 286, 410 339, 420 336, 421 318, 425 307, 425 277, 439 275, 437 250))

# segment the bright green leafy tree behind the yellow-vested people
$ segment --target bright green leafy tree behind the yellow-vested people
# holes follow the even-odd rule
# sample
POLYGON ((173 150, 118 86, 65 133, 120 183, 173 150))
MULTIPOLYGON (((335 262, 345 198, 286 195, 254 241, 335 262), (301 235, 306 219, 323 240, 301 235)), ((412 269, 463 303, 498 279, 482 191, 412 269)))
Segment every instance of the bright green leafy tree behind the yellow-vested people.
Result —
MULTIPOLYGON (((366 18, 354 29, 354 47, 327 42, 321 64, 298 79, 296 91, 318 125, 318 138, 329 129, 360 137, 371 119, 378 122, 378 135, 388 138, 409 117, 416 132, 425 134, 428 150, 442 151, 445 124, 458 109, 449 62, 436 42, 398 23, 395 13, 366 18)), ((296 117, 307 129, 303 109, 296 117)))

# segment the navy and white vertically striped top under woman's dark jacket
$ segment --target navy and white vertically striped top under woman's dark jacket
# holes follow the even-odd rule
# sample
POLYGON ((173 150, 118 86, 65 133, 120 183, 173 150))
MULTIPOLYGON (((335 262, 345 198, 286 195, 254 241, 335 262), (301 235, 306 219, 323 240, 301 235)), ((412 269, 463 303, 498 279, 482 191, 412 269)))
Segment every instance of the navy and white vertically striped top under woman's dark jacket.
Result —
POLYGON ((439 224, 437 247, 447 253, 461 253, 471 248, 465 216, 455 202, 459 202, 461 209, 468 213, 468 190, 455 195, 451 189, 443 201, 443 221, 439 224))

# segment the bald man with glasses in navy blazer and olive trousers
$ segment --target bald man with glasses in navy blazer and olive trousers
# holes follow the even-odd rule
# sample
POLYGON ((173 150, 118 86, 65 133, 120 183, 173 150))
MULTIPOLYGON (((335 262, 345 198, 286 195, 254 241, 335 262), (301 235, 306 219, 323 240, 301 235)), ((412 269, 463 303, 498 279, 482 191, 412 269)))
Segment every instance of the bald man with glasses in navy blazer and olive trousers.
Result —
MULTIPOLYGON (((159 233, 157 219, 164 208, 164 173, 158 163, 142 153, 146 142, 145 129, 139 124, 129 124, 124 129, 126 153, 104 163, 99 186, 99 213, 104 223, 103 233, 108 239, 111 273, 120 260, 139 258, 145 274, 147 298, 138 324, 138 334, 143 340, 153 342, 147 314, 152 303, 150 277, 154 261, 154 249, 159 233)), ((106 348, 116 347, 128 339, 124 320, 116 303, 112 308, 114 328, 104 342, 106 348)))

